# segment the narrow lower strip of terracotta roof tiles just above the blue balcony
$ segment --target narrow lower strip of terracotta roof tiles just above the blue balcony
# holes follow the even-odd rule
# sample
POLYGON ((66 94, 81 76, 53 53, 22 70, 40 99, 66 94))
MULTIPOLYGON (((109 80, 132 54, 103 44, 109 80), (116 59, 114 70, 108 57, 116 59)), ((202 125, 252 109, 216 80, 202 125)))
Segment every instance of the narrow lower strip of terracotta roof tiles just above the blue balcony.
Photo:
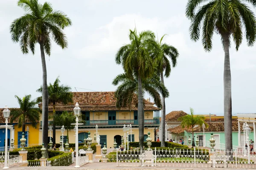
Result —
MULTIPOLYGON (((56 111, 73 111, 74 107, 56 107, 56 111)), ((49 108, 48 111, 52 112, 53 108, 49 108)), ((116 107, 80 107, 81 111, 130 111, 130 108, 116 108, 116 107)), ((138 108, 132 107, 131 111, 137 111, 138 108)), ((160 111, 160 108, 154 106, 145 106, 145 111, 160 111)))

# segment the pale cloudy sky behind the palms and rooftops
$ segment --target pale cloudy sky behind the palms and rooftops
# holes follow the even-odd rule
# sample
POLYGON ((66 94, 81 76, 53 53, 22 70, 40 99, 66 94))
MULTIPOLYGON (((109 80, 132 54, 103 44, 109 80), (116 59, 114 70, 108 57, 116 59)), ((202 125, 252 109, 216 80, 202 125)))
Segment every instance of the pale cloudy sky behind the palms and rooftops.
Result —
MULTIPOLYGON (((45 0, 39 0, 44 3, 45 0)), ((73 91, 115 91, 114 77, 123 72, 115 63, 117 50, 129 43, 129 29, 151 30, 163 42, 175 46, 180 56, 165 85, 170 96, 166 113, 194 108, 196 114, 224 112, 224 51, 219 35, 213 36, 211 52, 205 52, 201 40, 189 37, 190 21, 185 16, 186 0, 47 0, 55 10, 70 17, 73 25, 65 28, 68 48, 52 43, 46 56, 47 83, 59 76, 73 91), (76 87, 76 88, 75 88, 76 87)), ((256 12, 255 9, 252 9, 256 12)), ((11 40, 9 26, 25 14, 17 0, 0 0, 0 108, 19 107, 15 95, 40 96, 42 84, 39 45, 35 55, 23 55, 19 43, 11 40)), ((230 48, 232 112, 255 113, 256 47, 243 41, 236 51, 230 48)), ((145 96, 148 98, 148 96, 145 96)))

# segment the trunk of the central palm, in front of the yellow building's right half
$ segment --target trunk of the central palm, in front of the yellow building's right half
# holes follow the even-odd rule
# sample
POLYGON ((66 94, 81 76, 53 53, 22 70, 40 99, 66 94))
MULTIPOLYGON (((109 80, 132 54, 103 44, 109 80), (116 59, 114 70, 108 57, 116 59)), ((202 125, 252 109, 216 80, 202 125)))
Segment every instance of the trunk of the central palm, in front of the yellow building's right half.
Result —
POLYGON ((142 82, 140 74, 138 73, 138 123, 139 123, 139 141, 140 151, 143 150, 144 142, 144 108, 143 108, 143 94, 142 94, 142 82))

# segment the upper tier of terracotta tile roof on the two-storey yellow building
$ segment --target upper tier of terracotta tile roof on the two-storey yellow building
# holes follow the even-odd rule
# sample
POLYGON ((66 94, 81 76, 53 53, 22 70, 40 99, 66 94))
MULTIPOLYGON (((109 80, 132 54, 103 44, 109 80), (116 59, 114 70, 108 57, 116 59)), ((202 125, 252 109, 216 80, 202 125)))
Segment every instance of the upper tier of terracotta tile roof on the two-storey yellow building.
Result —
MULTIPOLYGON (((73 103, 67 105, 75 105, 76 102, 79 105, 116 105, 116 97, 114 91, 107 92, 71 92, 73 94, 73 103)), ((137 98, 134 95, 134 101, 137 98)), ((153 102, 149 102, 144 99, 144 103, 147 105, 154 105, 153 102)), ((133 102, 135 104, 135 102, 133 102)), ((52 105, 52 103, 49 103, 52 105)), ((64 105, 63 103, 57 103, 56 105, 64 105)))

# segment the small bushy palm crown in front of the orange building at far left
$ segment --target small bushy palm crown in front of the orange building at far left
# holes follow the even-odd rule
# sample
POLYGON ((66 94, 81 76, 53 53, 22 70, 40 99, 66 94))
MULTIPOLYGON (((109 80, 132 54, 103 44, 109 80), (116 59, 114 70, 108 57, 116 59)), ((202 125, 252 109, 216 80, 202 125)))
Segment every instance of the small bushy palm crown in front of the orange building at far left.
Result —
POLYGON ((20 109, 13 110, 10 116, 10 122, 13 123, 18 120, 18 127, 22 127, 22 132, 25 133, 26 123, 30 122, 32 127, 36 128, 36 125, 40 118, 40 109, 37 108, 37 102, 31 100, 31 95, 26 95, 22 99, 15 96, 17 99, 20 109))

